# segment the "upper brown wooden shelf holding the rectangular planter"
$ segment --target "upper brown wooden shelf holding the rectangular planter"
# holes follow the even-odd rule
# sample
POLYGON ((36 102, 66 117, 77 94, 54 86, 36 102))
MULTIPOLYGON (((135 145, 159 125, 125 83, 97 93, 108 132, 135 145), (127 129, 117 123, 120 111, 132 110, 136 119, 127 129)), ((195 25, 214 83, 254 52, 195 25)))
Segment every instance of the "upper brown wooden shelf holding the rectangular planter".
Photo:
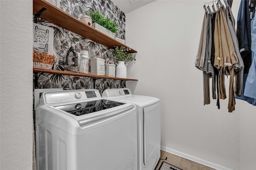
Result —
MULTIPOLYGON (((46 10, 42 12, 40 18, 47 20, 50 23, 54 23, 55 25, 86 37, 111 49, 114 49, 115 46, 128 47, 109 37, 108 35, 101 33, 93 27, 83 23, 82 21, 74 18, 73 16, 67 14, 66 12, 60 10, 45 0, 33 0, 33 15, 35 15, 42 8, 46 8, 46 10)), ((137 51, 132 49, 129 51, 129 53, 137 53, 137 51)))

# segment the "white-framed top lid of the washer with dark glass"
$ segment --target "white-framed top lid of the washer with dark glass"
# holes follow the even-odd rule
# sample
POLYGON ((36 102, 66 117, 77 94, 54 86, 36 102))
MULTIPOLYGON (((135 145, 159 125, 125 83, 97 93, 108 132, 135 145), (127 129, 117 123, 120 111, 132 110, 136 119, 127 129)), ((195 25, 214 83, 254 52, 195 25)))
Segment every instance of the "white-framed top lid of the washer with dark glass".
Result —
MULTIPOLYGON (((123 117, 125 118, 126 115, 132 113, 136 114, 136 107, 133 104, 128 103, 121 104, 119 106, 115 105, 115 103, 109 102, 108 100, 102 100, 102 103, 98 103, 98 101, 95 104, 87 103, 87 109, 93 110, 93 112, 90 114, 87 113, 88 110, 86 109, 74 111, 74 107, 76 106, 75 104, 81 103, 67 103, 41 107, 40 109, 36 110, 36 123, 40 121, 45 121, 53 127, 61 129, 62 131, 70 135, 79 135, 97 127, 108 124, 112 121, 116 121, 123 117), (102 106, 100 106, 101 104, 102 106), (71 113, 72 111, 70 111, 70 113, 64 111, 65 109, 68 110, 68 107, 65 109, 60 109, 58 108, 58 106, 72 106, 74 114, 71 113), (99 107, 103 107, 102 110, 98 110, 100 109, 99 107)), ((86 107, 87 104, 81 106, 86 107)), ((80 106, 77 106, 77 108, 78 107, 80 106)))

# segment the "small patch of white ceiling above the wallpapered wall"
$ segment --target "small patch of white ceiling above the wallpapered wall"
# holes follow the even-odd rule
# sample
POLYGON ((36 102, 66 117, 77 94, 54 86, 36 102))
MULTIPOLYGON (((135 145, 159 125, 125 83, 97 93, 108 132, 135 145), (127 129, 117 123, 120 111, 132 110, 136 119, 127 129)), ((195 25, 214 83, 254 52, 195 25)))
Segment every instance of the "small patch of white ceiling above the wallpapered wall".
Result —
POLYGON ((155 0, 111 0, 124 14, 127 14, 155 0))

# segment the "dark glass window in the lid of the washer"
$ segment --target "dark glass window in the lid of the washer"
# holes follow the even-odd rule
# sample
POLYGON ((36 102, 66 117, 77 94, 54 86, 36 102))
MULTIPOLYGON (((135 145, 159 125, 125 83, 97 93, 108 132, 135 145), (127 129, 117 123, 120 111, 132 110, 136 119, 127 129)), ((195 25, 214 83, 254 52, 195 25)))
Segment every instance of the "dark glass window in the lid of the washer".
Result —
POLYGON ((80 116, 89 113, 94 113, 96 111, 110 109, 112 107, 120 106, 123 104, 124 103, 114 102, 111 100, 95 100, 90 102, 54 106, 54 108, 66 111, 76 116, 80 116))

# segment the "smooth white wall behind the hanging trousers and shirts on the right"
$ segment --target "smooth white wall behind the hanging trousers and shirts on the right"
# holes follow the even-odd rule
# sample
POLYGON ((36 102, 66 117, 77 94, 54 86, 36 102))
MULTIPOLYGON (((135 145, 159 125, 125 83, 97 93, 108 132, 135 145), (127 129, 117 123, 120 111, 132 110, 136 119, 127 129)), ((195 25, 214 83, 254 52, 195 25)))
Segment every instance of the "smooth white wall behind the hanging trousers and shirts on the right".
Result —
MULTIPOLYGON (((236 100, 236 110, 228 113, 228 99, 220 109, 216 100, 203 106, 202 72, 194 62, 205 2, 157 0, 126 14, 126 45, 138 51, 127 73, 138 82, 127 81, 127 87, 160 98, 162 146, 234 170, 255 170, 256 107, 236 100)), ((233 2, 235 18, 239 4, 233 2)))

